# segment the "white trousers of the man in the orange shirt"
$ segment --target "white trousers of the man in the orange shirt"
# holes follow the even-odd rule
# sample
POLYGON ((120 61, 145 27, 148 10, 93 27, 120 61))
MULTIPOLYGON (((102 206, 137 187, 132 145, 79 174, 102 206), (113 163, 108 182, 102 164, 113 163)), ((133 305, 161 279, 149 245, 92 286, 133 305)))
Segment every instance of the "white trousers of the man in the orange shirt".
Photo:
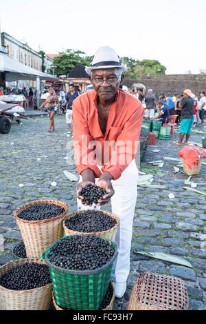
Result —
MULTIPOLYGON (((80 176, 80 182, 82 181, 80 176)), ((119 216, 120 225, 115 237, 117 244, 117 259, 113 266, 112 280, 115 283, 125 283, 130 272, 130 247, 133 235, 133 218, 137 201, 138 170, 133 160, 117 180, 112 180, 115 194, 111 197, 112 213, 119 216)), ((98 179, 95 179, 97 182, 98 179)), ((89 207, 78 200, 78 210, 100 209, 94 204, 89 207)))

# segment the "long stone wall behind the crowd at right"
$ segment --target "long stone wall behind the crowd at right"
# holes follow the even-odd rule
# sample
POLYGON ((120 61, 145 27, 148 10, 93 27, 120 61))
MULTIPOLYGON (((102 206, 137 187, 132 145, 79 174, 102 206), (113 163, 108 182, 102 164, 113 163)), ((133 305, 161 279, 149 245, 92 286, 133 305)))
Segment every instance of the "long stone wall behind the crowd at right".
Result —
POLYGON ((183 90, 190 89, 196 95, 201 90, 206 91, 206 74, 165 74, 159 76, 144 76, 141 79, 125 79, 124 85, 131 88, 133 83, 143 83, 146 89, 152 88, 154 94, 167 96, 174 92, 181 94, 183 90))

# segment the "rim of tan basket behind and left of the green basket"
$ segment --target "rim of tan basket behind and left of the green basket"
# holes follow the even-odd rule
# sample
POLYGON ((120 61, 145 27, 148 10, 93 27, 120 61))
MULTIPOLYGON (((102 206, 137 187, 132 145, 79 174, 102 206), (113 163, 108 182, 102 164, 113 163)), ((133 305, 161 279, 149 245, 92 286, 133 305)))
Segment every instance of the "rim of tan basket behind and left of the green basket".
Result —
POLYGON ((24 203, 20 207, 18 207, 16 210, 14 210, 14 217, 16 220, 21 221, 23 223, 30 223, 30 224, 43 224, 43 223, 49 223, 51 221, 56 221, 61 218, 65 218, 67 216, 67 212, 69 210, 69 205, 67 203, 64 203, 62 201, 56 201, 52 199, 40 199, 40 200, 35 200, 31 201, 30 203, 24 203), (60 205, 63 208, 65 208, 65 211, 62 212, 62 214, 57 215, 56 217, 52 217, 51 219, 42 219, 38 221, 27 221, 25 219, 21 219, 19 217, 19 213, 22 212, 23 210, 26 210, 27 208, 31 207, 32 205, 41 205, 42 203, 54 203, 54 205, 60 205))

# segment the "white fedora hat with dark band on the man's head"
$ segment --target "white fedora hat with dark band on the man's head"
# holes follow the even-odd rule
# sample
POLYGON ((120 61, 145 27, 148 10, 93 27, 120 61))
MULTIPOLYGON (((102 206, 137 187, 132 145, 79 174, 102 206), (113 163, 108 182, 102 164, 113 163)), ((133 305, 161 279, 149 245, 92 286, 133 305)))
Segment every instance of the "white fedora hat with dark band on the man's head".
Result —
POLYGON ((121 68, 122 72, 126 71, 126 65, 121 65, 115 50, 109 46, 102 46, 95 52, 91 66, 87 66, 85 71, 90 75, 92 70, 111 68, 121 68))

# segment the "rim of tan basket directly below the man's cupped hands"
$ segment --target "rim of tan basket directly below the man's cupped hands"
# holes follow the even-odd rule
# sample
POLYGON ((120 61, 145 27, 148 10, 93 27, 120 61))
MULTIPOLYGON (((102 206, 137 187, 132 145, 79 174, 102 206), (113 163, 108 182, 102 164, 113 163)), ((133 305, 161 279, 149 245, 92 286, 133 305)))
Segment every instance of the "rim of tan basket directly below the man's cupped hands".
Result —
POLYGON ((106 231, 102 231, 102 232, 78 232, 78 231, 74 231, 74 230, 71 230, 71 228, 68 228, 66 225, 65 225, 65 221, 67 221, 67 219, 71 219, 72 217, 76 216, 77 214, 84 214, 86 210, 78 210, 77 212, 72 212, 71 214, 69 214, 67 217, 65 217, 64 221, 63 221, 63 227, 65 230, 69 230, 71 232, 73 232, 73 235, 104 235, 104 234, 108 234, 108 233, 111 233, 113 232, 114 230, 117 229, 117 227, 119 226, 119 217, 116 216, 116 215, 113 215, 111 214, 110 212, 107 212, 106 210, 92 210, 92 212, 103 212, 104 214, 107 214, 108 216, 111 216, 112 219, 115 219, 116 221, 116 224, 106 230, 106 231))

